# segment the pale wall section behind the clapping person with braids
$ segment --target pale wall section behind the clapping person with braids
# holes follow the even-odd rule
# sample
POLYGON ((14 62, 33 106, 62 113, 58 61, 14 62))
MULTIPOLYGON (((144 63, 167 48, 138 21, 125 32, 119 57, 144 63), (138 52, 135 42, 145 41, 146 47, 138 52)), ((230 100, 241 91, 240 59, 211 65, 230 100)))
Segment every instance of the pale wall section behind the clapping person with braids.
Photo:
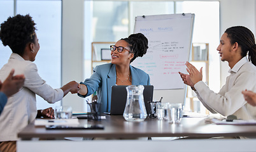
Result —
MULTIPOLYGON (((220 36, 232 26, 245 26, 256 31, 256 1, 255 0, 221 0, 220 1, 220 36)), ((220 86, 225 84, 229 75, 227 62, 220 62, 220 86)))

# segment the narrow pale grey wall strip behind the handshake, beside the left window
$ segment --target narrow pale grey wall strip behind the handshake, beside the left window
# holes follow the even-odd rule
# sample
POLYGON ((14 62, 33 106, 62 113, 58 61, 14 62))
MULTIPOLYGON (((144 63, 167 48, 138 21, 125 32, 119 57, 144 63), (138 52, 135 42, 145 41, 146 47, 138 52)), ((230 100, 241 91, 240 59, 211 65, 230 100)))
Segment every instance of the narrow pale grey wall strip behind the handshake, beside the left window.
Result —
MULTIPOLYGON (((62 85, 83 81, 83 0, 62 0, 62 85)), ((62 105, 83 111, 83 99, 67 94, 62 105)))

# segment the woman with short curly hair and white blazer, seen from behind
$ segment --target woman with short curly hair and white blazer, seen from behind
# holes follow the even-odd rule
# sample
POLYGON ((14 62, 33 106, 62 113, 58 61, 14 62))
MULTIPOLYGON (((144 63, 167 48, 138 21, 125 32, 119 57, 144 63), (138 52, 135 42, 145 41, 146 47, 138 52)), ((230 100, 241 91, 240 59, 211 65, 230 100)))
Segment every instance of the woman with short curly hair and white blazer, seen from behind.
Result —
MULTIPOLYGON (((55 103, 68 92, 77 93, 79 89, 75 81, 53 89, 41 79, 33 63, 40 48, 35 25, 29 15, 12 16, 1 23, 0 39, 4 46, 11 48, 12 53, 8 63, 0 70, 0 80, 6 79, 14 69, 15 75, 24 75, 25 82, 22 89, 8 98, 1 113, 0 151, 15 151, 18 132, 36 118, 36 94, 48 103, 55 103)), ((48 108, 45 113, 41 111, 40 116, 53 118, 52 108, 48 108)))

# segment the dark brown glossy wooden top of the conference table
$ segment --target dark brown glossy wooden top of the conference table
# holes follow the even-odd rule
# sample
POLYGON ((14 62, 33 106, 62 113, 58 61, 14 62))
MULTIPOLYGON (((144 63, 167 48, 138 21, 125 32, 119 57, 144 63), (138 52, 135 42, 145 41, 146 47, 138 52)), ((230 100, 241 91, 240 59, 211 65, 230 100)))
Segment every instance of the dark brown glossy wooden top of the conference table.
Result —
POLYGON ((46 130, 31 123, 18 137, 62 138, 62 137, 235 137, 256 136, 255 125, 216 125, 206 122, 204 118, 182 118, 180 124, 170 124, 166 120, 146 118, 143 122, 127 122, 122 116, 109 116, 99 122, 79 120, 80 124, 102 124, 103 130, 46 130))

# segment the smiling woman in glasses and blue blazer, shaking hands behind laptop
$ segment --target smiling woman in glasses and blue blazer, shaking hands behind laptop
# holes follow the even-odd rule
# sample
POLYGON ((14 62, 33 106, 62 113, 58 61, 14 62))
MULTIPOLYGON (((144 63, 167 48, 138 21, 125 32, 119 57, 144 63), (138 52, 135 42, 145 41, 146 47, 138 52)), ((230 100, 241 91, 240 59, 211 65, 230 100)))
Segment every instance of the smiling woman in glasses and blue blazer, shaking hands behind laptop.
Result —
POLYGON ((132 34, 110 46, 111 63, 94 68, 90 79, 81 82, 78 96, 85 98, 97 91, 99 112, 110 112, 111 87, 113 85, 150 85, 150 77, 130 63, 142 57, 148 49, 145 35, 132 34))

